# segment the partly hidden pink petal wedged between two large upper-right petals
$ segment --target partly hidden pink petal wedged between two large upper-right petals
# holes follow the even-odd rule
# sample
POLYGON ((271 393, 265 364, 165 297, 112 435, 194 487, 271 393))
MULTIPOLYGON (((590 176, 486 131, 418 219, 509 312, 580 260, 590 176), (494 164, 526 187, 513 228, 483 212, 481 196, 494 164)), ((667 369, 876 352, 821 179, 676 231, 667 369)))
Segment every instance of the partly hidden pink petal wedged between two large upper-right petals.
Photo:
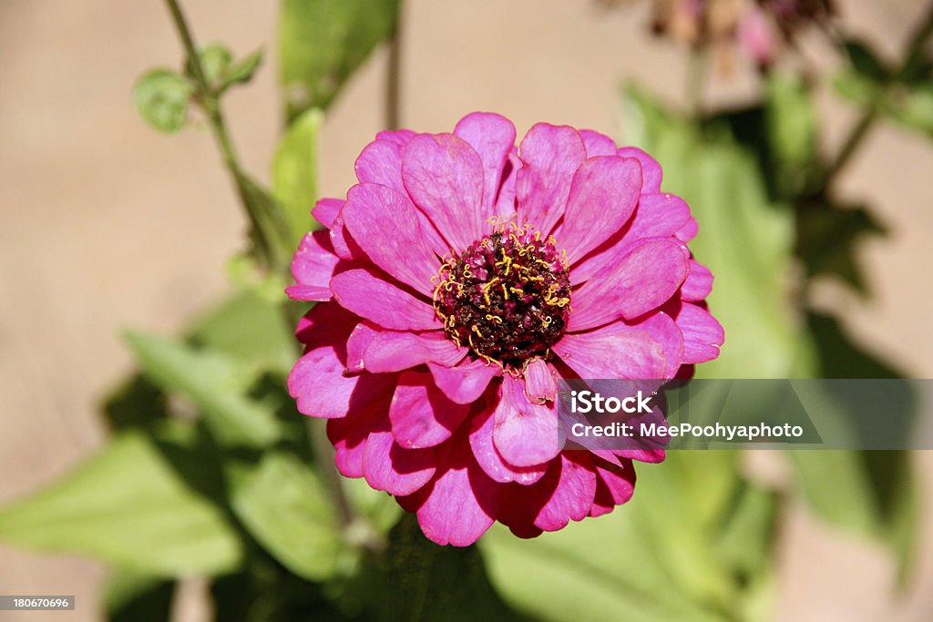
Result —
POLYGON ((602 244, 570 270, 571 283, 588 281, 592 276, 620 260, 620 257, 643 238, 673 236, 690 219, 687 203, 673 194, 643 194, 627 228, 602 244))

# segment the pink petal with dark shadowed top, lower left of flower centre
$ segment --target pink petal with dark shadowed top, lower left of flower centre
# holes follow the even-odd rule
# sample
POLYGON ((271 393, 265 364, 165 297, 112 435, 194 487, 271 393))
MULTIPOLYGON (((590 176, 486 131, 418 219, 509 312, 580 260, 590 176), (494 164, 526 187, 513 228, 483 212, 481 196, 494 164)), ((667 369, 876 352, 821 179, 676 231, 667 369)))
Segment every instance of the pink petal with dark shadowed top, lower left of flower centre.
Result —
POLYGON ((392 435, 405 448, 434 447, 453 435, 469 406, 454 404, 430 374, 404 371, 389 407, 392 435))

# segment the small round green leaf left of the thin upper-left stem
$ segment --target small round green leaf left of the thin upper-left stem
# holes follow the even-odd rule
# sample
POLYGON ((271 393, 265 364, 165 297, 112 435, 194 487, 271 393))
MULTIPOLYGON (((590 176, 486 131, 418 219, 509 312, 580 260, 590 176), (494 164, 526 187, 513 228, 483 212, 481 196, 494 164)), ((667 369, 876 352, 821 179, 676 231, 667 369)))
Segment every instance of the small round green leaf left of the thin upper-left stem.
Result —
POLYGON ((136 80, 132 100, 150 126, 172 133, 185 126, 194 85, 170 69, 151 69, 136 80))

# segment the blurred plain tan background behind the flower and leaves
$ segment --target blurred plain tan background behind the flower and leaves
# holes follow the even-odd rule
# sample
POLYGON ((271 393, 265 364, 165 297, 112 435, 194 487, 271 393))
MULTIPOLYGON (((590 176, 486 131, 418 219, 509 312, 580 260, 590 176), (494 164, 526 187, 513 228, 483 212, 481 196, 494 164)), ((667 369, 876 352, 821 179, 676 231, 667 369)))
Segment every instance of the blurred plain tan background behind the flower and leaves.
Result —
MULTIPOLYGON (((187 4, 202 41, 273 51, 272 0, 187 4)), ((852 31, 891 53, 923 5, 840 4, 852 31)), ((418 130, 449 130, 466 112, 488 109, 520 132, 546 119, 618 135, 622 78, 683 99, 683 54, 648 38, 643 6, 610 13, 589 0, 412 0, 405 19, 403 117, 418 130)), ((833 62, 818 41, 806 50, 833 62)), ((130 368, 121 328, 171 332, 227 287, 221 267, 240 248, 244 222, 208 133, 159 135, 130 100, 143 69, 179 59, 159 2, 0 2, 0 502, 63 474, 102 442, 95 405, 130 368)), ((384 61, 380 53, 369 62, 327 121, 326 194, 349 187, 355 154, 380 129, 384 61)), ((745 75, 718 80, 708 95, 742 100, 755 89, 745 75)), ((228 111, 247 167, 266 176, 279 128, 271 63, 230 95, 228 111)), ((851 115, 829 96, 823 112, 835 145, 851 115)), ((870 200, 892 229, 864 248, 878 296, 862 302, 828 285, 820 297, 845 310, 863 342, 926 378, 930 173, 933 148, 922 139, 891 128, 871 135, 842 187, 870 200)), ((928 525, 933 460, 917 458, 928 525)), ((930 530, 920 581, 902 601, 889 596, 891 563, 880 548, 823 527, 799 506, 783 535, 781 619, 933 619, 930 530)), ((0 593, 75 593, 79 611, 69 620, 97 619, 103 576, 87 561, 0 546, 0 593)), ((199 619, 199 585, 187 589, 184 616, 199 619)))

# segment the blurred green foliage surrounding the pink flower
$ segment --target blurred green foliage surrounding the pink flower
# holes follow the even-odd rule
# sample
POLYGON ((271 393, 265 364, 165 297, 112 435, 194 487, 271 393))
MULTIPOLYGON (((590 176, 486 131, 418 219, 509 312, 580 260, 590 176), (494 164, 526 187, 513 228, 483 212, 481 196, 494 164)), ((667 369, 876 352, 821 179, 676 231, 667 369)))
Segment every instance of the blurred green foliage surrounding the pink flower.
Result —
MULTIPOLYGON (((138 371, 105 401, 110 440, 62 480, 0 508, 0 539, 111 566, 110 620, 166 619, 176 582, 190 575, 209 577, 223 620, 769 617, 788 495, 750 480, 734 452, 673 453, 640 469, 632 502, 604 518, 528 541, 496 526, 465 549, 434 546, 388 495, 335 477, 323 427, 299 415, 285 388, 305 309, 282 290, 289 254, 313 226, 327 107, 397 32, 399 10, 397 0, 283 1, 286 123, 268 189, 241 167, 220 106, 259 70, 261 51, 234 60, 222 44, 191 44, 179 71, 139 78, 133 101, 156 130, 180 131, 192 107, 202 111, 252 243, 228 265, 234 293, 181 337, 126 335, 138 371)), ((185 32, 180 10, 174 18, 185 32)), ((933 65, 918 51, 931 23, 897 67, 844 42, 835 85, 863 113, 846 149, 878 118, 933 136, 933 65)), ((897 378, 806 305, 817 277, 868 296, 856 248, 884 227, 833 190, 851 153, 820 151, 812 85, 777 70, 763 80, 758 104, 708 115, 624 93, 626 142, 661 160, 665 190, 702 223, 691 246, 717 275, 709 304, 727 342, 700 374, 897 378)), ((791 493, 829 524, 890 546, 906 581, 918 506, 909 455, 787 459, 791 493)))

